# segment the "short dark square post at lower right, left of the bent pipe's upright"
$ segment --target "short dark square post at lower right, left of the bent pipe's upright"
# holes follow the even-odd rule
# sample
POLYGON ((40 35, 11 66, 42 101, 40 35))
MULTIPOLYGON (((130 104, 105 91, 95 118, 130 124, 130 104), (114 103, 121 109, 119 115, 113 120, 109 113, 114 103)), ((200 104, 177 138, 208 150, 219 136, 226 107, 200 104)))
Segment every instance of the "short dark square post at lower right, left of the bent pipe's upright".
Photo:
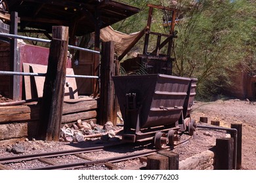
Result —
POLYGON ((234 155, 234 139, 216 139, 216 163, 217 170, 232 170, 234 155))

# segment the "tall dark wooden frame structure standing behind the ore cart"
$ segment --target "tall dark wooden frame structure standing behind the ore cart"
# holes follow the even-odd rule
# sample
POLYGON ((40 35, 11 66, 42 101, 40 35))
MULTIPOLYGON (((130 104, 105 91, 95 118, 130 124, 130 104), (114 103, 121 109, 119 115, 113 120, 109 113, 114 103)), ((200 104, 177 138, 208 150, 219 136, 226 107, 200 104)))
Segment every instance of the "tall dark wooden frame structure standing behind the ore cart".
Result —
MULTIPOLYGON (((146 28, 144 29, 145 40, 143 53, 139 54, 137 58, 124 61, 121 66, 125 68, 125 71, 133 71, 134 69, 132 68, 138 68, 141 65, 144 65, 149 74, 161 73, 165 75, 171 75, 173 67, 173 58, 171 58, 171 52, 173 47, 173 38, 176 37, 174 28, 175 20, 177 18, 177 9, 150 4, 148 4, 148 7, 148 22, 146 28), (171 23, 168 24, 169 33, 157 33, 150 29, 154 9, 166 11, 165 16, 167 16, 167 13, 171 15, 171 23), (148 50, 148 46, 150 44, 150 37, 152 36, 157 37, 157 42, 155 49, 150 52, 148 50), (166 48, 166 50, 163 50, 163 48, 166 48)), ((121 60, 123 57, 124 54, 119 56, 118 59, 121 60)))

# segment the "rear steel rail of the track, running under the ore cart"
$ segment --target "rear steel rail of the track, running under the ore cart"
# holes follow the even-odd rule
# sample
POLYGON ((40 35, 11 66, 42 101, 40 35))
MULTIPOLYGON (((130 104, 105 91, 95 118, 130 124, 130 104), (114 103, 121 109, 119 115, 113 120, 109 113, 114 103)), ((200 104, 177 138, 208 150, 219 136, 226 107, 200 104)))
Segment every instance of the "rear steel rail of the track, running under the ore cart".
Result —
POLYGON ((41 153, 41 154, 28 154, 23 156, 9 156, 5 158, 0 158, 0 163, 12 163, 12 162, 18 162, 18 161, 28 161, 28 160, 37 159, 37 158, 52 158, 56 156, 72 155, 72 154, 79 154, 79 153, 86 153, 86 152, 96 152, 96 151, 104 150, 104 148, 109 148, 109 147, 117 146, 120 144, 123 144, 123 142, 117 143, 117 144, 108 144, 104 146, 77 149, 77 150, 65 150, 61 152, 58 151, 58 152, 47 152, 47 153, 41 153))

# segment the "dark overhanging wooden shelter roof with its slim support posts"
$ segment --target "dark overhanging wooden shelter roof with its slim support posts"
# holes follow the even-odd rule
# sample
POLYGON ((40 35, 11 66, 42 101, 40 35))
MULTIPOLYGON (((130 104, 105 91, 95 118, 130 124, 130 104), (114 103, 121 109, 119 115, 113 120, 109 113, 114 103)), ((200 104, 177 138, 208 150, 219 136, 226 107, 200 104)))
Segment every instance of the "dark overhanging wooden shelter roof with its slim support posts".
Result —
MULTIPOLYGON (((16 22, 14 21, 15 16, 11 20, 11 24, 15 24, 14 26, 11 26, 11 30, 12 27, 14 27, 13 31, 16 31, 11 31, 11 33, 43 33, 46 37, 52 39, 52 26, 63 25, 69 27, 70 44, 72 45, 75 45, 75 37, 95 32, 94 49, 97 51, 100 50, 100 29, 139 12, 139 8, 131 7, 112 0, 89 0, 86 2, 81 0, 14 0, 5 1, 5 5, 7 7, 6 11, 1 11, 0 18, 5 20, 6 24, 9 24, 11 20, 9 12, 16 12, 16 16, 18 15, 18 17, 16 17, 16 22)), ((7 41, 9 41, 9 39, 7 39, 7 41)), ((16 48, 16 46, 12 46, 12 48, 16 48)), ((14 59, 15 58, 11 59, 11 71, 15 71, 14 63, 18 63, 18 61, 14 61, 14 59)), ((99 75, 99 59, 100 56, 98 56, 98 54, 93 55, 92 75, 99 75)), ((20 71, 20 69, 16 70, 20 71)), ((83 75, 86 75, 86 73, 83 73, 83 75)), ((18 79, 20 79, 20 77, 15 76, 14 79, 11 80, 11 94, 7 97, 20 99, 18 97, 20 88, 18 87, 21 86, 15 84, 19 83, 18 79)), ((93 80, 92 85, 96 96, 96 92, 98 92, 99 88, 98 80, 93 80)))

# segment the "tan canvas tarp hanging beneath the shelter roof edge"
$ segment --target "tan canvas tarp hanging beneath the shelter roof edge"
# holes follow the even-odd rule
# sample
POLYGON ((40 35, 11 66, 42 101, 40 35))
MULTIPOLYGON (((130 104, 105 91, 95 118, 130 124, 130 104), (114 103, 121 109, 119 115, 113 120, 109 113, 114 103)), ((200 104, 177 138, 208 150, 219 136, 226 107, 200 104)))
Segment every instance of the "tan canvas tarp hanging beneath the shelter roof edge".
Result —
MULTIPOLYGON (((142 30, 144 31, 144 30, 142 30)), ((118 56, 123 54, 125 49, 140 36, 141 31, 137 33, 125 34, 119 31, 115 31, 111 26, 100 29, 100 39, 102 41, 114 41, 115 52, 118 56)))

